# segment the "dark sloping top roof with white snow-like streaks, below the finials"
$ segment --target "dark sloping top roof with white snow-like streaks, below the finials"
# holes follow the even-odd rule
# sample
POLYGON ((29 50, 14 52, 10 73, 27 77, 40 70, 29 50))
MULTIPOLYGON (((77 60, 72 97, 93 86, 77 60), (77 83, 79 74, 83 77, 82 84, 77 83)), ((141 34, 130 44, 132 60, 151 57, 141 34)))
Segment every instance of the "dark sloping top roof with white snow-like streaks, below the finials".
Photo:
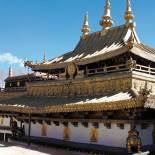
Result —
MULTIPOLYGON (((132 25, 132 24, 131 24, 132 25)), ((35 70, 56 69, 66 67, 68 63, 88 64, 98 60, 107 59, 107 55, 114 57, 119 55, 122 50, 129 51, 128 42, 130 36, 134 37, 134 44, 139 44, 139 38, 134 30, 126 25, 110 28, 105 34, 101 31, 88 34, 85 39, 80 39, 72 52, 65 53, 46 63, 34 64, 31 61, 25 62, 25 65, 35 70)), ((109 58, 109 56, 108 56, 109 58)))

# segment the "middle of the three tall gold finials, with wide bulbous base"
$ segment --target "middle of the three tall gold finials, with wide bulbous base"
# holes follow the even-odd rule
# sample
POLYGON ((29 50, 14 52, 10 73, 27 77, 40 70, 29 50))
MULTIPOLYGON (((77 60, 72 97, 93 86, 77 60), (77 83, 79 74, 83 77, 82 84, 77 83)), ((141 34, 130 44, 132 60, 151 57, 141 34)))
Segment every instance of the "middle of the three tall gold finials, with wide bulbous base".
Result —
POLYGON ((112 26, 112 23, 112 17, 110 15, 110 1, 106 0, 104 16, 100 21, 100 25, 103 27, 103 29, 109 29, 112 26))

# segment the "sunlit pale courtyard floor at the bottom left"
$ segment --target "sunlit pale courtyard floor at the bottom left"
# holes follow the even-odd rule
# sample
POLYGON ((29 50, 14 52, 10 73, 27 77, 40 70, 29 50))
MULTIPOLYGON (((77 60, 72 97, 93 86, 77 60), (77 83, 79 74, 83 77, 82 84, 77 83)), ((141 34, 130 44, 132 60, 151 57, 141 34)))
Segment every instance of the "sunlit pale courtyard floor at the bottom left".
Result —
POLYGON ((0 155, 86 155, 58 148, 43 147, 21 143, 3 143, 0 141, 0 155))

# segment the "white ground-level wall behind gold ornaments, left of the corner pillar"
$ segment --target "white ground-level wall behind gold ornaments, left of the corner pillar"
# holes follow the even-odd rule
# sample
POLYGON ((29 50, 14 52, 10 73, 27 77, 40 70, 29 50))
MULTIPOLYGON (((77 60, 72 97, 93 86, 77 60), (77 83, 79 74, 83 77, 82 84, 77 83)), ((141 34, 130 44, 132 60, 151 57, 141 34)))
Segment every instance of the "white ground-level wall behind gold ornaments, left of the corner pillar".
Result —
MULTIPOLYGON (((39 123, 31 124, 31 136, 42 137, 41 127, 39 123)), ((74 127, 69 123, 70 129, 70 141, 79 143, 92 143, 90 142, 90 131, 93 128, 92 124, 88 124, 88 128, 84 127, 81 123, 78 123, 78 127, 74 127)), ((59 126, 55 124, 48 125, 47 137, 55 139, 63 139, 64 125, 60 123, 59 126)), ((98 142, 95 144, 126 147, 126 139, 128 137, 128 131, 130 125, 125 124, 124 129, 120 129, 116 124, 111 125, 111 129, 107 129, 103 123, 99 124, 98 128, 98 142)), ((28 124, 25 124, 25 133, 28 135, 28 124)))

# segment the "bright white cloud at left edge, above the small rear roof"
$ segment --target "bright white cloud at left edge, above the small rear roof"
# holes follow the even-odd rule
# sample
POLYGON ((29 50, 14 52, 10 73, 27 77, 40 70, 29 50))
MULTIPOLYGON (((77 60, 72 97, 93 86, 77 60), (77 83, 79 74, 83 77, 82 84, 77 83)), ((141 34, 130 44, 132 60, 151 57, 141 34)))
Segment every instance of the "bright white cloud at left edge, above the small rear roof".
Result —
POLYGON ((12 55, 11 53, 0 54, 0 62, 8 64, 19 64, 23 66, 23 60, 17 56, 12 55))

